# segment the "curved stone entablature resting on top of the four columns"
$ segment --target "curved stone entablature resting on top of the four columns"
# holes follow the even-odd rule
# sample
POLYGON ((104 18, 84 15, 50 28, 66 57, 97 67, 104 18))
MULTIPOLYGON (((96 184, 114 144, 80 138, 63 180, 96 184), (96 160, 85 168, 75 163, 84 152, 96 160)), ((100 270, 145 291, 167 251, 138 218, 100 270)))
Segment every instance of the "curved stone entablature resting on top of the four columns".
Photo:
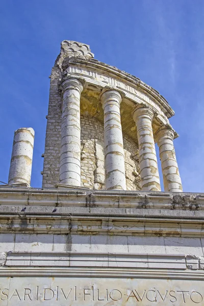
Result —
POLYGON ((67 72, 78 75, 83 74, 84 77, 87 77, 87 81, 92 77, 95 80, 95 84, 101 87, 109 85, 121 89, 127 98, 132 99, 136 103, 140 103, 140 100, 143 100, 158 110, 159 113, 162 110, 162 113, 167 118, 174 115, 166 99, 157 90, 116 67, 101 63, 95 59, 89 60, 88 62, 82 59, 75 59, 69 61, 67 72))

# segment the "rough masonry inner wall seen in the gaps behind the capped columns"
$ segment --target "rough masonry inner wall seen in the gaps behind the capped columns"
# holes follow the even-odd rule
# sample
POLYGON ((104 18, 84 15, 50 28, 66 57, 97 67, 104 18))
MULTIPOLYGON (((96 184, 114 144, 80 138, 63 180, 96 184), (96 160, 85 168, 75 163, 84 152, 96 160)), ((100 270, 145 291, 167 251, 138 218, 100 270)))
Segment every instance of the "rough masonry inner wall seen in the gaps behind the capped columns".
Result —
MULTIPOLYGON (((125 134, 123 144, 127 190, 140 190, 138 147, 125 134)), ((81 149, 82 186, 90 189, 105 189, 104 125, 94 117, 81 116, 81 149), (100 163, 97 161, 98 158, 100 163)))

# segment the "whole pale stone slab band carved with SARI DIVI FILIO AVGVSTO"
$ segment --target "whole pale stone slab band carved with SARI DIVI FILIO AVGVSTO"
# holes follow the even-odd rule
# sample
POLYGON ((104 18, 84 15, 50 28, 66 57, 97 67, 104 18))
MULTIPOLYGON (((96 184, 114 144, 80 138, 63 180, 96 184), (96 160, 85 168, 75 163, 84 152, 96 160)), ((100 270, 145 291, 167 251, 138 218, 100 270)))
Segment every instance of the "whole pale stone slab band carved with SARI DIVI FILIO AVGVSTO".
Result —
POLYGON ((202 280, 0 277, 1 306, 204 305, 202 280))

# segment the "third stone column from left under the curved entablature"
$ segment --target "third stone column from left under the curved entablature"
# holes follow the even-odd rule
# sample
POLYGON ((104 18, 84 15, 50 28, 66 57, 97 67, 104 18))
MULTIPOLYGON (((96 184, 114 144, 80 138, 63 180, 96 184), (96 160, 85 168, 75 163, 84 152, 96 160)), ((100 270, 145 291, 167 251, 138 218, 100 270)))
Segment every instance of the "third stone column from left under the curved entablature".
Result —
POLYGON ((160 178, 152 131, 154 112, 140 105, 133 113, 137 126, 139 164, 142 191, 161 191, 160 178))

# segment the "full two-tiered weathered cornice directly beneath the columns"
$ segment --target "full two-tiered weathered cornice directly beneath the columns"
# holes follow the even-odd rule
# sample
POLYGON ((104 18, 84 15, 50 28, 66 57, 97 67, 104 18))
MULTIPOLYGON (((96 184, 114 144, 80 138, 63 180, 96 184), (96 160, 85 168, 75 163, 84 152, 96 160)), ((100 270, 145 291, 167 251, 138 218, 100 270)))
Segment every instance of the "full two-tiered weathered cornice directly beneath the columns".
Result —
POLYGON ((204 195, 0 188, 0 233, 204 237, 204 195))

